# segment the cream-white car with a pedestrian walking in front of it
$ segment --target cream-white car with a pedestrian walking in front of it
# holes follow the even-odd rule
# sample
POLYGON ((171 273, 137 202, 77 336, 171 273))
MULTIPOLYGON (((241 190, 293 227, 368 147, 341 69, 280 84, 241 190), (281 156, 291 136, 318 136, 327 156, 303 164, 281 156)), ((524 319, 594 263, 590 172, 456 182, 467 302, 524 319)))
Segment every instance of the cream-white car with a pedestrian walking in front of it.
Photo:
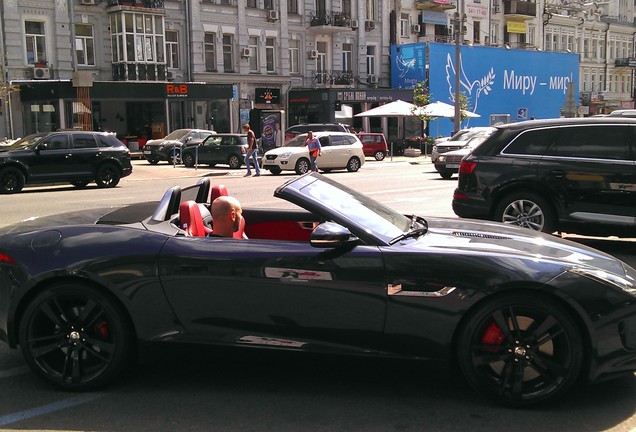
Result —
MULTIPOLYGON (((358 171, 364 164, 362 143, 357 136, 347 132, 314 132, 320 140, 321 156, 318 157, 318 169, 328 172, 334 169, 358 171)), ((309 171, 309 151, 305 146, 307 134, 296 136, 282 147, 268 150, 263 155, 263 168, 278 175, 282 171, 296 171, 304 174, 309 171)))

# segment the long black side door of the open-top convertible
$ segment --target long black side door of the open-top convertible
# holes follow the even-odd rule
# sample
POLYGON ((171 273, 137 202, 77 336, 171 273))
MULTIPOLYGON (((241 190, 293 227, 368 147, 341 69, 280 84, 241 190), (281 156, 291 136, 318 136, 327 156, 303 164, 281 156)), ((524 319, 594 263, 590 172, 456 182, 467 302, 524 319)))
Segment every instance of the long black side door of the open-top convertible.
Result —
POLYGON ((386 277, 377 247, 175 237, 159 258, 166 295, 193 337, 239 344, 380 346, 386 277))

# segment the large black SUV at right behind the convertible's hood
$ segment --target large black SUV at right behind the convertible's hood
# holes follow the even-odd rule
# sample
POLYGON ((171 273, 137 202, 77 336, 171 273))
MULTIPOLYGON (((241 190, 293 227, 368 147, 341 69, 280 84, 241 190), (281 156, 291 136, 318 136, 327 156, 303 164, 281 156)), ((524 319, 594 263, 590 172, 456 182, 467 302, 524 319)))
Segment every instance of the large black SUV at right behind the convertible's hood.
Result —
POLYGON ((462 160, 453 210, 536 231, 632 234, 636 119, 531 120, 498 126, 462 160))

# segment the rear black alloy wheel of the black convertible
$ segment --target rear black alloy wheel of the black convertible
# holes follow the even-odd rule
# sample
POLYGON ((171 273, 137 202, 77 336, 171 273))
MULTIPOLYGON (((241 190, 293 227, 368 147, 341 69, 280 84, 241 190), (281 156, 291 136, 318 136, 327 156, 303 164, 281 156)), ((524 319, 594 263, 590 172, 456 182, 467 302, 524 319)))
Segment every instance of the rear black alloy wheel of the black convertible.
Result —
POLYGON ((134 359, 128 317, 98 289, 76 282, 48 287, 20 320, 20 348, 44 381, 86 390, 115 379, 134 359))

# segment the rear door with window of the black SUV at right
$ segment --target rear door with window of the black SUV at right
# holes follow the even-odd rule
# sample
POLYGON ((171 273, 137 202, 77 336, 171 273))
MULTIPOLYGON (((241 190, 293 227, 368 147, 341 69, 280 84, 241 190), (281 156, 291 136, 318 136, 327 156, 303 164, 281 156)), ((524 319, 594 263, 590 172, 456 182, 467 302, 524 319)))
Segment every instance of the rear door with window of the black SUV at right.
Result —
POLYGON ((567 217, 590 223, 634 226, 636 165, 629 125, 561 128, 539 163, 567 217))

